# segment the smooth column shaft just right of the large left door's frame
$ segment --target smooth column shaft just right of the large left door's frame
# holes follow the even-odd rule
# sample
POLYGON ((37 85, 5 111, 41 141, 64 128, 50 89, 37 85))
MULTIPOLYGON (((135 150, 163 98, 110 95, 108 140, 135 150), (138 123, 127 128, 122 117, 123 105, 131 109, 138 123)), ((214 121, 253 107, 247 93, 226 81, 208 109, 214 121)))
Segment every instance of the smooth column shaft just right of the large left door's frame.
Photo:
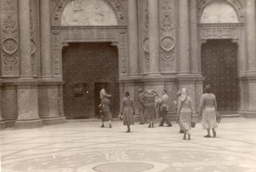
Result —
POLYGON ((128 2, 128 31, 129 31, 129 75, 137 75, 138 59, 138 27, 137 27, 137 0, 128 2))

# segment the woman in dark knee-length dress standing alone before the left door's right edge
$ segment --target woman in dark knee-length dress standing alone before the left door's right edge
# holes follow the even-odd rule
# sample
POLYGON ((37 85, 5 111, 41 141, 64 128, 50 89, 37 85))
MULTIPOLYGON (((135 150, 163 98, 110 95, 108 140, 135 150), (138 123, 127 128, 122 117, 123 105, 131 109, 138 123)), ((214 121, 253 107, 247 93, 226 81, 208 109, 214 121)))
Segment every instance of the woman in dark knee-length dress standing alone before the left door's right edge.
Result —
POLYGON ((130 125, 134 124, 134 113, 134 100, 130 97, 130 92, 126 91, 121 104, 121 114, 124 117, 124 125, 127 125, 127 133, 131 132, 130 125))

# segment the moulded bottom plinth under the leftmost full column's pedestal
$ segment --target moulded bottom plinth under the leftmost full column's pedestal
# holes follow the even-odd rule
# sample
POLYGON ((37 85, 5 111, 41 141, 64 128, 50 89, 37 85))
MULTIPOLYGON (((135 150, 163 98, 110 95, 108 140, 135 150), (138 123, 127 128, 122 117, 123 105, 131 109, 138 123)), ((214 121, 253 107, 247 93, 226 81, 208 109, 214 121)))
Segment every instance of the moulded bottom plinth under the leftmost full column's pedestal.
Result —
POLYGON ((43 127, 43 121, 41 119, 17 120, 15 122, 15 129, 33 129, 38 127, 43 127))

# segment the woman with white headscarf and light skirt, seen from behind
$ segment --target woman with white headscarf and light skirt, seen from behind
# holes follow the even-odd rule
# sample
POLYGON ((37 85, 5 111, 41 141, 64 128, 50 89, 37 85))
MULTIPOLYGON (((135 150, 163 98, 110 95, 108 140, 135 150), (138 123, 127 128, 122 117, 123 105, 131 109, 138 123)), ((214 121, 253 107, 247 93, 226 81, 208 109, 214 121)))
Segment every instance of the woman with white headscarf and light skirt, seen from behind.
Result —
POLYGON ((191 117, 192 117, 192 100, 188 96, 187 89, 182 89, 182 95, 180 96, 177 103, 177 115, 180 120, 181 129, 183 130, 183 140, 186 140, 186 135, 188 135, 188 140, 190 140, 191 129, 191 117))

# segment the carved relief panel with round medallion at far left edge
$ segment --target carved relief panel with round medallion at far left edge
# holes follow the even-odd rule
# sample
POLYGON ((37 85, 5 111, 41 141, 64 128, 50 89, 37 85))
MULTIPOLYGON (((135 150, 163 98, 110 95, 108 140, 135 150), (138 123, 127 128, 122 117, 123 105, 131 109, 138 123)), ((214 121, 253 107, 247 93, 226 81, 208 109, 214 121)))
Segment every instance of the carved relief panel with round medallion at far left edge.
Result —
POLYGON ((19 76, 19 35, 16 0, 2 0, 1 43, 3 77, 19 76))

